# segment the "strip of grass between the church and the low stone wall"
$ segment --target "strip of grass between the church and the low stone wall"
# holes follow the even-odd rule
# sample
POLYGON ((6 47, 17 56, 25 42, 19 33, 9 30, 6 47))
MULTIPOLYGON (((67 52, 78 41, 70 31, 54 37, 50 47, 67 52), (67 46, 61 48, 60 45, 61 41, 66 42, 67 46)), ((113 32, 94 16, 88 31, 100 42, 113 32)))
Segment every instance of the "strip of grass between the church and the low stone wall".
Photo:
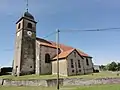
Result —
MULTIPOLYGON (((96 79, 96 78, 120 78, 120 76, 117 76, 116 73, 112 72, 100 72, 100 73, 94 73, 88 74, 88 75, 78 75, 78 76, 60 76, 60 78, 85 78, 85 79, 96 79)), ((56 75, 25 75, 20 77, 14 77, 12 75, 4 75, 0 76, 2 79, 12 79, 12 80, 28 80, 28 79, 55 79, 57 78, 56 75)))

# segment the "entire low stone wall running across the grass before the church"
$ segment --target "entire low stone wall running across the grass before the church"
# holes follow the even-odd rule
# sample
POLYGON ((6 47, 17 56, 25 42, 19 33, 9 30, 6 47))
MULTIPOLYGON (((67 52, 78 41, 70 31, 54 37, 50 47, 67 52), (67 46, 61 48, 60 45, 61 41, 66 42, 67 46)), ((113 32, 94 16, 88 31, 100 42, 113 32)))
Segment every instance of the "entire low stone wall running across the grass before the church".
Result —
MULTIPOLYGON (((71 86, 71 85, 97 85, 97 84, 120 84, 120 78, 99 78, 99 79, 80 79, 80 78, 71 78, 71 79, 60 79, 59 83, 61 86, 71 86)), ((0 85, 3 86, 45 86, 51 87, 57 85, 57 79, 41 79, 41 80, 7 80, 1 79, 0 85)))

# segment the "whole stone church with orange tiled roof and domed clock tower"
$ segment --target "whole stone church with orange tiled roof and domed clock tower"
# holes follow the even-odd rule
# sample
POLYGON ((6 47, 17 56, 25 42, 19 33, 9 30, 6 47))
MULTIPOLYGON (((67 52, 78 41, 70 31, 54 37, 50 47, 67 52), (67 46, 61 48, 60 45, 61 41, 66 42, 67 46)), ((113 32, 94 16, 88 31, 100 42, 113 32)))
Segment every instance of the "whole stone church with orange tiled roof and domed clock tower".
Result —
MULTIPOLYGON (((13 75, 57 74, 57 45, 36 37, 34 16, 26 11, 16 22, 13 75)), ((59 44, 59 74, 63 76, 93 73, 92 57, 83 51, 59 44)))

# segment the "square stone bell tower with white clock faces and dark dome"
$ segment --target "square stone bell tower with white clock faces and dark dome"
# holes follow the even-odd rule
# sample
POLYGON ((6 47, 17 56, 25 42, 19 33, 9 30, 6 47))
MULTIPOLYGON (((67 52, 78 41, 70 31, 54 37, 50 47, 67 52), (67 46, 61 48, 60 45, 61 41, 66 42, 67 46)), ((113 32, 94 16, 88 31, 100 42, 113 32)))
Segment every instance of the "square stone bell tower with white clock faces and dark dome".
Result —
POLYGON ((36 23, 28 10, 16 22, 13 75, 35 73, 36 23))

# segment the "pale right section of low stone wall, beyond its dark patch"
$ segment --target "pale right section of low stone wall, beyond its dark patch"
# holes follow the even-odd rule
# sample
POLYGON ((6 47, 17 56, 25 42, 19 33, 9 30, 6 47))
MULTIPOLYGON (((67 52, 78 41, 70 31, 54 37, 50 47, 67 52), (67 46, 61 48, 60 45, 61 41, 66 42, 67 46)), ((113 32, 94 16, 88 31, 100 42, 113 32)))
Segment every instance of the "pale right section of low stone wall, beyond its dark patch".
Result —
POLYGON ((99 78, 99 79, 64 79, 63 86, 71 86, 71 85, 97 85, 97 84, 119 84, 120 78, 99 78))

